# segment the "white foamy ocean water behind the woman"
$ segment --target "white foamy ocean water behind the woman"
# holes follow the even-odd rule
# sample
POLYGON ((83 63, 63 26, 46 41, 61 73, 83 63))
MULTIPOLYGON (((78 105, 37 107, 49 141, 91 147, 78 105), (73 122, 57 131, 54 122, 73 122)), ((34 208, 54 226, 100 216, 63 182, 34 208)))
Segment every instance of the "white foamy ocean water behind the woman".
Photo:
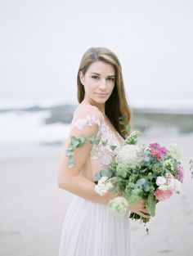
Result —
MULTIPOLYGON (((193 114, 191 97, 183 101, 153 98, 130 101, 130 104, 133 109, 144 113, 193 114)), ((60 107, 65 105, 65 101, 53 99, 1 99, 0 160, 36 155, 41 149, 61 147, 70 131, 70 117, 67 122, 61 120, 60 111, 63 109, 60 107)))

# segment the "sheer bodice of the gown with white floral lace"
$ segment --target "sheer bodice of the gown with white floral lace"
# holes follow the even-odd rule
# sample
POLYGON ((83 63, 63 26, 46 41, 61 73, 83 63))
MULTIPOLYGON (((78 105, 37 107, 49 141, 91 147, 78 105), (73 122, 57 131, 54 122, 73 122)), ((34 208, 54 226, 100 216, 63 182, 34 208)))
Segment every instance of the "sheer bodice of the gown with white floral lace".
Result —
POLYGON ((70 135, 93 137, 96 141, 90 145, 89 152, 85 146, 82 155, 79 155, 79 157, 87 155, 81 173, 92 181, 96 172, 110 167, 114 155, 123 144, 123 138, 115 131, 112 124, 107 124, 101 111, 91 105, 79 105, 74 111, 70 135))

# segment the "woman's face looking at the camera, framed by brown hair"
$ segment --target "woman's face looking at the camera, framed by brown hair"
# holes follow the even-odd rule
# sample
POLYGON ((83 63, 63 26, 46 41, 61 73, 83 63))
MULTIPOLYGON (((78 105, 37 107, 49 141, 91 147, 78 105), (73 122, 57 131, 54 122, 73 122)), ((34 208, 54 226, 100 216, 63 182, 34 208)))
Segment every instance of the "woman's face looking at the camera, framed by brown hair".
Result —
POLYGON ((80 72, 79 76, 85 91, 84 99, 104 105, 114 89, 114 66, 104 61, 95 61, 84 75, 80 72))

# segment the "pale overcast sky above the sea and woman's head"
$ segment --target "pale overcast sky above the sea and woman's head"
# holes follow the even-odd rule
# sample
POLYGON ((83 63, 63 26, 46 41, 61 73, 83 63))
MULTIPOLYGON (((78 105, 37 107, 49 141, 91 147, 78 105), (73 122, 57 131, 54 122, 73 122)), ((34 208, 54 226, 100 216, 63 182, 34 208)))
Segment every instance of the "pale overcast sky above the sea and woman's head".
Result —
POLYGON ((130 99, 193 97, 190 0, 0 0, 0 98, 76 102, 88 47, 109 47, 130 99))

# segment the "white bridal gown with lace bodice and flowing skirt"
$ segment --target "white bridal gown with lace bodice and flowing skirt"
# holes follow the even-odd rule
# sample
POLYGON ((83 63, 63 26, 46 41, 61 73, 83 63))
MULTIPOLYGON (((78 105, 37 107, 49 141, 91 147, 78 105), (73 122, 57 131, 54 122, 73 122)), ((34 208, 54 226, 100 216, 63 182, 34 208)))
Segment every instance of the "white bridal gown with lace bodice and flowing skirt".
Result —
MULTIPOLYGON (((98 126, 83 176, 94 178, 96 172, 110 165, 123 143, 118 132, 105 123, 105 118, 95 106, 79 105, 74 112, 72 130, 98 126), (108 140, 108 143, 104 141, 108 140), (112 150, 110 145, 117 146, 112 150)), ((65 214, 61 230, 59 256, 134 256, 129 224, 126 216, 114 217, 105 204, 99 204, 74 195, 65 214)))

